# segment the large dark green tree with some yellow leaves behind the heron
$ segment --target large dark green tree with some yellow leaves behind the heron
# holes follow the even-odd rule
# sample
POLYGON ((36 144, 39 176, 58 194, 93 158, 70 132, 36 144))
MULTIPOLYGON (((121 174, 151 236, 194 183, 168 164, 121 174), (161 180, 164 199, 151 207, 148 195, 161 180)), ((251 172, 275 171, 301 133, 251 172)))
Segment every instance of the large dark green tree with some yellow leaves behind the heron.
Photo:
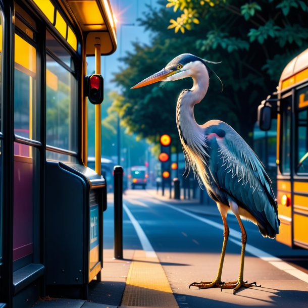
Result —
POLYGON ((177 134, 175 104, 181 89, 188 87, 187 80, 167 83, 165 88, 130 87, 175 56, 191 53, 222 61, 211 68, 224 83, 220 93, 219 83, 211 77, 204 102, 195 107, 197 122, 223 120, 251 144, 260 101, 276 90, 284 66, 308 46, 307 20, 307 6, 301 0, 168 0, 167 8, 149 11, 140 21, 153 32, 151 45, 135 43, 134 52, 122 59, 125 69, 115 76, 123 87, 125 124, 150 140, 166 131, 177 134), (174 31, 166 31, 168 27, 174 31))

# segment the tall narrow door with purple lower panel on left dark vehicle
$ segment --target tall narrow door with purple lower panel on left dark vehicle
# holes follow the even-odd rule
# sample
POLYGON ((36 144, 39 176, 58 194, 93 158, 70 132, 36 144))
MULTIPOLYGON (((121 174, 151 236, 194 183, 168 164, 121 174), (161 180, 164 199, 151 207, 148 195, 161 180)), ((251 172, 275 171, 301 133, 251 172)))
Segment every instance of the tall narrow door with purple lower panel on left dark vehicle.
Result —
POLYGON ((38 26, 19 6, 15 10, 13 295, 18 306, 23 305, 18 293, 31 282, 38 294, 34 282, 44 272, 39 264, 43 148, 38 26))

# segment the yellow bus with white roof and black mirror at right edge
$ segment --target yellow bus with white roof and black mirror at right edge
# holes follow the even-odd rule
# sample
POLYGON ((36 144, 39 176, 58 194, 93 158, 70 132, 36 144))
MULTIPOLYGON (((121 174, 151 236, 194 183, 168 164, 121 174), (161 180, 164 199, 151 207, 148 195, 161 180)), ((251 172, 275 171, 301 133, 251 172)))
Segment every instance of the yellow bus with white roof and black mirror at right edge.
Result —
POLYGON ((277 240, 308 249, 308 49, 284 68, 274 95, 258 118, 268 130, 277 116, 277 240))

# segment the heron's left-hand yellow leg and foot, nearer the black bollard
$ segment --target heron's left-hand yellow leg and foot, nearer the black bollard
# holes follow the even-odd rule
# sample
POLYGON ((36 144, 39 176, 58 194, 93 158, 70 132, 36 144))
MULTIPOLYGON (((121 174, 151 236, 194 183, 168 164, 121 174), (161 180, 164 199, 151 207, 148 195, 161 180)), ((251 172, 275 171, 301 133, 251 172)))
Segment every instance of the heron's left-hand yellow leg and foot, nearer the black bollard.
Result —
POLYGON ((210 282, 193 282, 189 285, 189 288, 191 286, 193 287, 197 287, 199 289, 209 289, 209 288, 217 288, 220 285, 223 285, 224 282, 221 281, 221 274, 223 271, 223 265, 224 265, 224 259, 225 259, 225 253, 226 253, 226 247, 227 247, 227 241, 228 241, 228 237, 229 237, 229 227, 227 224, 227 210, 223 211, 221 210, 219 203, 217 204, 218 209, 221 213, 221 217, 223 219, 224 222, 224 242, 223 242, 223 247, 222 247, 222 251, 221 251, 221 257, 220 257, 220 262, 219 262, 219 268, 218 268, 218 273, 217 273, 217 277, 214 281, 210 281, 210 282))

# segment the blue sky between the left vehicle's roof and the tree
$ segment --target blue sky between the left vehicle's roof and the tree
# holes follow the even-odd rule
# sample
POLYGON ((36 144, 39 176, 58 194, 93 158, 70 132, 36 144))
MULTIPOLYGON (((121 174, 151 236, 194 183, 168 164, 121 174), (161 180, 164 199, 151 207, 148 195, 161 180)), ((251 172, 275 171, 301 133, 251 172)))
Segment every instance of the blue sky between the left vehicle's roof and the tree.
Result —
MULTIPOLYGON (((125 56, 127 51, 132 51, 132 42, 139 41, 148 43, 150 33, 138 26, 137 19, 142 17, 148 10, 148 6, 158 7, 157 0, 110 0, 111 8, 117 18, 117 40, 118 48, 113 55, 102 56, 101 74, 104 77, 105 88, 113 89, 115 85, 111 82, 113 73, 120 71, 119 58, 125 56)), ((94 71, 94 57, 88 58, 88 71, 94 71)))

